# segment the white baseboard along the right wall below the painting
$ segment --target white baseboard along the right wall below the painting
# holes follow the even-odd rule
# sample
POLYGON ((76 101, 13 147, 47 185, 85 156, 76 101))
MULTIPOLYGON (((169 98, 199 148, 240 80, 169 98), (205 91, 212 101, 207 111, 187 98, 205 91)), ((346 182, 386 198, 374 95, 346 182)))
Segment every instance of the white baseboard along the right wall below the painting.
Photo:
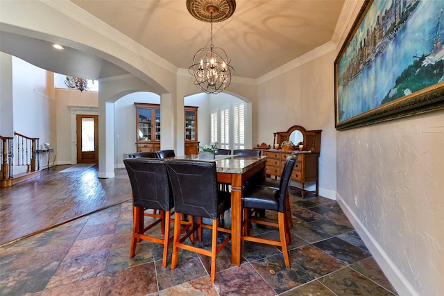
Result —
POLYGON ((343 198, 339 193, 336 193, 336 202, 338 202, 341 209, 344 211, 345 216, 347 216, 350 223, 352 223, 355 230, 361 236, 362 241, 370 250, 370 253, 373 255, 375 261, 379 264, 379 267, 386 275, 388 281, 392 284, 393 288, 395 288, 396 292, 399 295, 411 295, 411 296, 419 296, 420 294, 416 292, 416 290, 411 286, 409 281, 402 275, 402 272, 396 267, 395 263, 391 261, 390 257, 382 247, 377 243, 375 238, 368 232, 364 224, 361 223, 361 220, 356 216, 356 214, 348 207, 348 204, 345 203, 343 198))

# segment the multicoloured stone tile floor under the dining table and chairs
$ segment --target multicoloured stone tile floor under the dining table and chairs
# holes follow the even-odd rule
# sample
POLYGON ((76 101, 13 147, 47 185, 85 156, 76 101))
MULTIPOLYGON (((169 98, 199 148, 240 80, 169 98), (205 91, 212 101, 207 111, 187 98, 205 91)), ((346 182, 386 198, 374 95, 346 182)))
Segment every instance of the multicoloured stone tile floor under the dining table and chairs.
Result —
MULTIPOLYGON (((230 244, 219 254, 214 284, 206 256, 181 250, 171 270, 170 250, 162 268, 162 246, 142 241, 130 259, 127 201, 1 247, 0 295, 396 294, 334 200, 302 199, 296 191, 290 198, 291 268, 285 268, 277 247, 248 242, 239 267, 231 264, 230 244)), ((254 225, 253 232, 278 236, 254 225)), ((210 233, 204 232, 204 244, 205 236, 210 233)))

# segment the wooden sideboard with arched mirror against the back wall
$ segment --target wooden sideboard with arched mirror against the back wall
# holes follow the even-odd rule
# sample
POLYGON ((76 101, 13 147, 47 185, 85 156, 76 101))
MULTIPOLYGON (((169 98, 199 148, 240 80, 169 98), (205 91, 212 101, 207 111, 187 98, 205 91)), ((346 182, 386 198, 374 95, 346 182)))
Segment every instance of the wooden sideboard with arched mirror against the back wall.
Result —
POLYGON ((306 194, 314 193, 318 195, 319 187, 319 166, 318 159, 321 152, 321 132, 322 130, 305 130, 300 125, 293 125, 287 132, 275 132, 273 148, 275 143, 280 146, 283 141, 292 141, 296 146, 295 150, 268 149, 262 150, 262 155, 266 155, 266 175, 280 177, 282 168, 287 157, 291 154, 298 154, 298 162, 291 175, 291 180, 299 182, 300 187, 293 186, 300 190, 302 198, 306 194), (299 149, 299 146, 303 147, 299 149), (307 191, 306 182, 315 182, 315 189, 307 191))

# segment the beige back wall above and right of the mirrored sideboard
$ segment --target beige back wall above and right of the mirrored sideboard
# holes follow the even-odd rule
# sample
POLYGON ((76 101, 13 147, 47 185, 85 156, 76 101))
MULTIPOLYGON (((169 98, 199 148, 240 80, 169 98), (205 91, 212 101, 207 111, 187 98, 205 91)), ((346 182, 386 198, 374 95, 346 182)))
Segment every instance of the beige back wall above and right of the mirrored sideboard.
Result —
POLYGON ((273 144, 273 132, 293 125, 322 130, 319 157, 319 195, 335 199, 336 130, 334 129, 334 77, 331 51, 259 85, 257 143, 273 144))

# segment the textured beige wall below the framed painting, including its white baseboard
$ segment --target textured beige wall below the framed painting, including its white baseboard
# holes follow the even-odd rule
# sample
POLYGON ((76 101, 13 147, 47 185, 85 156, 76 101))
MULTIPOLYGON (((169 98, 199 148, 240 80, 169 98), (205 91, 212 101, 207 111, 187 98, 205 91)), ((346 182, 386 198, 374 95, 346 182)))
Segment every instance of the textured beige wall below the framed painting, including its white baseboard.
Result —
POLYGON ((337 141, 338 200, 393 286, 441 295, 444 111, 339 132, 337 141))

